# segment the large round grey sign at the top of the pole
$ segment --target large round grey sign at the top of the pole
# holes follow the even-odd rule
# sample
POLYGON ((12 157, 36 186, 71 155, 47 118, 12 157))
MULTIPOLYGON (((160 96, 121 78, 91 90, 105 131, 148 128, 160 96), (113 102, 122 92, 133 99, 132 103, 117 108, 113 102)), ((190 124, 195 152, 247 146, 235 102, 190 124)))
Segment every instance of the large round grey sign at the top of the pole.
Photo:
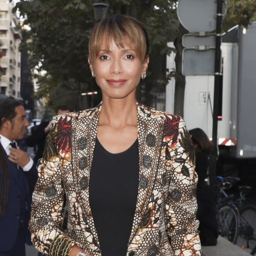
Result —
MULTIPOLYGON (((226 12, 226 1, 222 4, 222 13, 226 12)), ((178 19, 190 32, 211 32, 216 29, 216 0, 179 0, 178 19)))

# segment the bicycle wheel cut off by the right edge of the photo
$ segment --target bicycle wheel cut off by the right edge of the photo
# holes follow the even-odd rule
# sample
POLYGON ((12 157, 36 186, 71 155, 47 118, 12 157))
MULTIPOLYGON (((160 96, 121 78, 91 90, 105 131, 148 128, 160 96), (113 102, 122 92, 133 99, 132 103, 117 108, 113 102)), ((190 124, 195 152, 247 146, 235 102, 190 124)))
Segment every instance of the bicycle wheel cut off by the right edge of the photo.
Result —
POLYGON ((240 222, 237 245, 254 255, 256 253, 256 207, 253 205, 241 207, 240 222))

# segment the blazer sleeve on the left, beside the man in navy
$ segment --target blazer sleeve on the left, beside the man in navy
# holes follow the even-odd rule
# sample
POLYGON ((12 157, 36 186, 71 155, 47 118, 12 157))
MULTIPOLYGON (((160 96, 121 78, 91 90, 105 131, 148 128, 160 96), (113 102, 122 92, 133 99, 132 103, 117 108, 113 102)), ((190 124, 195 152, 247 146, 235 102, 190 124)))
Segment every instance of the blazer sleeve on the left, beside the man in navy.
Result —
MULTIPOLYGON (((31 240, 45 255, 68 256, 76 243, 60 230, 63 219, 64 189, 61 179, 60 158, 56 150, 57 123, 49 132, 43 158, 39 161, 38 181, 32 196, 29 229, 31 240)), ((79 245, 81 246, 81 245, 79 245)))

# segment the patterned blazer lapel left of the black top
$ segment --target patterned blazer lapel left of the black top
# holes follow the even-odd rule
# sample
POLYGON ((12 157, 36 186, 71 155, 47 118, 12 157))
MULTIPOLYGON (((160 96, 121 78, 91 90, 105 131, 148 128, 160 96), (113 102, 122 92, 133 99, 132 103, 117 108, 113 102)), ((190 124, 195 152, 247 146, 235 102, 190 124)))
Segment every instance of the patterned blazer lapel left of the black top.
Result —
MULTIPOLYGON (((92 235, 94 251, 99 252, 98 235, 94 226, 89 202, 89 180, 93 152, 98 129, 101 105, 84 117, 72 122, 72 162, 74 163, 75 186, 79 201, 79 214, 83 216, 85 229, 92 235), (88 117, 89 115, 89 117, 88 117), (91 117, 90 117, 91 116, 91 117)), ((92 245, 92 246, 93 246, 92 245)))

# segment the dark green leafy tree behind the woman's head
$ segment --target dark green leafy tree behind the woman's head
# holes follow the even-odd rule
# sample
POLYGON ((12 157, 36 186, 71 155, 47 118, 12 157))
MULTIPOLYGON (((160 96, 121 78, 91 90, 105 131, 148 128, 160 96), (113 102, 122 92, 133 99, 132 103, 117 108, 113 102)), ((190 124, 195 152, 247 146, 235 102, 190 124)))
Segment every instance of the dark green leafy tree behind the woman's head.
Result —
MULTIPOLYGON (((170 52, 167 42, 173 41, 177 34, 175 8, 175 0, 113 0, 108 15, 128 14, 142 21, 149 32, 152 59, 161 56, 162 61, 170 52)), ((44 77, 37 75, 40 87, 37 96, 47 95, 49 105, 54 106, 61 96, 60 93, 56 96, 56 91, 63 89, 72 95, 72 108, 79 109, 80 93, 97 89, 87 64, 87 45, 95 24, 91 1, 20 0, 14 11, 17 10, 24 17, 23 28, 30 27, 30 30, 23 29, 21 44, 23 51, 31 53, 30 68, 36 69, 38 74, 47 73, 44 77)), ((167 84, 164 67, 161 79, 155 74, 158 66, 158 63, 150 63, 151 77, 145 79, 148 95, 152 87, 167 84)))

